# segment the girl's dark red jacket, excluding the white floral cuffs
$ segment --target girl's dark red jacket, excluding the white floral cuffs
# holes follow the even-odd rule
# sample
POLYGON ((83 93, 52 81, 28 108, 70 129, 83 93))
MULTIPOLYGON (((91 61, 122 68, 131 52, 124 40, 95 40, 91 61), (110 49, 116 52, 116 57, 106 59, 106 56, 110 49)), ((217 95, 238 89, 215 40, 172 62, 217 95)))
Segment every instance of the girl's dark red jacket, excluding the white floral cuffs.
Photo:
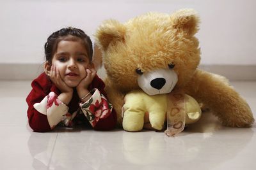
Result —
MULTIPOLYGON (((28 122, 30 127, 35 132, 46 132, 51 131, 51 127, 47 120, 47 116, 38 112, 34 108, 35 103, 40 103, 45 96, 48 96, 50 92, 54 92, 57 95, 60 95, 61 92, 57 87, 52 83, 49 77, 42 73, 38 78, 32 81, 31 83, 32 90, 26 98, 26 102, 28 103, 28 122)), ((104 91, 104 82, 99 78, 99 76, 95 76, 88 90, 92 90, 97 88, 101 94, 106 96, 106 92, 104 91)), ((107 96, 106 96, 107 97, 107 96)), ((68 104, 68 112, 73 113, 79 109, 79 97, 77 95, 76 90, 74 90, 74 94, 72 100, 68 104)), ((86 124, 86 122, 84 122, 86 124)), ((88 123, 87 123, 88 124, 88 123)), ((99 122, 93 127, 95 130, 100 131, 108 131, 114 129, 116 125, 116 113, 115 110, 112 110, 112 113, 103 119, 99 119, 99 122)))

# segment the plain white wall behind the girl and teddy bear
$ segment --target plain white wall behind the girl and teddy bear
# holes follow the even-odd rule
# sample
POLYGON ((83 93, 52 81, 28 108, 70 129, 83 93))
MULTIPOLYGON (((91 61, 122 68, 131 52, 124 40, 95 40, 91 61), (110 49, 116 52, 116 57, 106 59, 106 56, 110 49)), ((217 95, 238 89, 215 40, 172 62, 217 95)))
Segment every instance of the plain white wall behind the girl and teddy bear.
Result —
POLYGON ((79 27, 93 39, 103 20, 180 8, 200 15, 202 64, 256 64, 255 6, 253 0, 0 0, 0 64, 44 62, 47 37, 62 27, 79 27))

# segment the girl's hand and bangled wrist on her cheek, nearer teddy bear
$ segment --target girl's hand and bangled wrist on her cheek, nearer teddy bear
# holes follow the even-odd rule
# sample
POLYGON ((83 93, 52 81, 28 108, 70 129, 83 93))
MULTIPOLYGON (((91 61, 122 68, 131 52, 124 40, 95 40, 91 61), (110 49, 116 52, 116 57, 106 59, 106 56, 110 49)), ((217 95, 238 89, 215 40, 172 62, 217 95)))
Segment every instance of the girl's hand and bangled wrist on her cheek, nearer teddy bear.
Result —
POLYGON ((85 71, 87 73, 86 76, 80 81, 80 83, 76 87, 77 94, 80 98, 88 94, 88 87, 90 83, 92 83, 92 80, 97 73, 94 67, 88 68, 85 71))

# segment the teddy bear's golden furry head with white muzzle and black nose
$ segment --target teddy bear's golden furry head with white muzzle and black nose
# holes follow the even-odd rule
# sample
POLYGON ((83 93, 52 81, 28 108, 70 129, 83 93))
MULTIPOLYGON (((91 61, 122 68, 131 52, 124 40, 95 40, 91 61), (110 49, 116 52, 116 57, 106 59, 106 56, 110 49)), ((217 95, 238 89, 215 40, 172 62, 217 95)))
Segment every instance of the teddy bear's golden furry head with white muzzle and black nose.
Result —
POLYGON ((125 24, 107 20, 96 33, 108 78, 123 92, 164 94, 193 76, 200 62, 193 10, 147 13, 125 24))

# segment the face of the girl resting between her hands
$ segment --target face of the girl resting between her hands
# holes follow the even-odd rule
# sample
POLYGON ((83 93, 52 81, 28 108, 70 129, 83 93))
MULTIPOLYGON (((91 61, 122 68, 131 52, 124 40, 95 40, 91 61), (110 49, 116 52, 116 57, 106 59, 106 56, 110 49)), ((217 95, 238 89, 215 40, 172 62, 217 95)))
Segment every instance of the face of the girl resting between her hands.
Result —
POLYGON ((88 52, 81 41, 62 40, 52 57, 52 65, 60 71, 62 80, 69 87, 76 87, 86 76, 90 66, 88 52))

